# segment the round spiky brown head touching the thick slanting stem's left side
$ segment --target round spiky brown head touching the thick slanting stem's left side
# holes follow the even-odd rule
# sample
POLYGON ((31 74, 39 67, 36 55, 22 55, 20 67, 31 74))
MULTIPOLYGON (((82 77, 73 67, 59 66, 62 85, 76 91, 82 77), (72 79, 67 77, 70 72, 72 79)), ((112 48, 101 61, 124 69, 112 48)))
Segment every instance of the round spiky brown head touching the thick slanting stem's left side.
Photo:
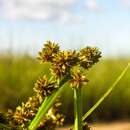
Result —
POLYGON ((41 97, 49 96, 52 94, 52 91, 57 88, 56 80, 49 80, 46 75, 42 78, 39 78, 33 90, 41 97))

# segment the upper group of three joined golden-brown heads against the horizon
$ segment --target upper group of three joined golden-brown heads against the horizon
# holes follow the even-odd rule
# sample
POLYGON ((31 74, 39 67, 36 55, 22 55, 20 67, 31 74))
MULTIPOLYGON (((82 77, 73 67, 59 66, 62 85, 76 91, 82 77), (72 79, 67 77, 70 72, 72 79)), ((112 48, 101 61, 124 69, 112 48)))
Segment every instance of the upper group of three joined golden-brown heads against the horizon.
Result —
POLYGON ((52 63, 51 72, 57 77, 63 77, 70 73, 70 69, 80 65, 89 69, 99 61, 101 52, 95 47, 86 47, 79 51, 62 51, 58 44, 47 42, 41 52, 39 60, 52 63))

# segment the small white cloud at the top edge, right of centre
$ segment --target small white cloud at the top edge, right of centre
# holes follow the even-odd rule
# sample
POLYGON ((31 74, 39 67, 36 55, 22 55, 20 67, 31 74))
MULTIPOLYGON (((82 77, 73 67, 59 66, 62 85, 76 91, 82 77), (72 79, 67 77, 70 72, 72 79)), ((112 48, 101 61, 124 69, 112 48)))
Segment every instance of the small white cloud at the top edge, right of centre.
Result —
POLYGON ((99 11, 101 7, 97 4, 97 0, 87 0, 86 6, 88 10, 99 11))

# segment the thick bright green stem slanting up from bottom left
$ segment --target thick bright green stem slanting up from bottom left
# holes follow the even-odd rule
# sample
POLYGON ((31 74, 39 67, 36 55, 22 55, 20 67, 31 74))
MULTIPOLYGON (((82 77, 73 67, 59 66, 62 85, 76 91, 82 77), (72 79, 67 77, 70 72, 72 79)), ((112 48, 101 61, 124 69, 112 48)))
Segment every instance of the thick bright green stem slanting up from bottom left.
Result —
POLYGON ((56 98, 62 93, 62 91, 64 90, 64 84, 68 81, 68 76, 66 76, 63 80, 61 80, 61 82, 59 83, 59 89, 56 90, 55 92, 53 92, 52 95, 50 95, 49 97, 47 97, 43 103, 41 104, 41 106, 39 107, 39 110, 36 114, 36 116, 34 117, 34 119, 32 120, 31 124, 29 125, 28 129, 29 130, 36 130, 41 119, 43 118, 43 116, 47 113, 47 111, 49 110, 49 108, 53 105, 53 103, 55 102, 56 98))

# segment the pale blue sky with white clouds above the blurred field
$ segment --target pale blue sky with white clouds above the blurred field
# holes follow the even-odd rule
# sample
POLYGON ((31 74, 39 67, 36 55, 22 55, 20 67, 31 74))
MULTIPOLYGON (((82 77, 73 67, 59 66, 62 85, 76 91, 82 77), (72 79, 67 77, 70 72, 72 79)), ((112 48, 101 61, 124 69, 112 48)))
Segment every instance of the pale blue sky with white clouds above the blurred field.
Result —
POLYGON ((0 51, 35 55, 46 40, 130 56, 130 0, 0 0, 0 51))

